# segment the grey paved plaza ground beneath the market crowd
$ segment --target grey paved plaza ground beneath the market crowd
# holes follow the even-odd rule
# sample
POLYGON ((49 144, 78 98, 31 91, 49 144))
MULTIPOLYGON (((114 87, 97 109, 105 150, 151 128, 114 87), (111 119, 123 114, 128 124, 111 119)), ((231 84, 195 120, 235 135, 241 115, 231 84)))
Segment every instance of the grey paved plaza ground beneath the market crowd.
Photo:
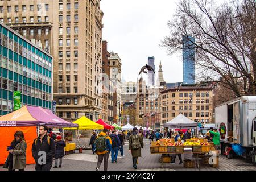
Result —
MULTIPOLYGON (((118 162, 111 163, 111 156, 109 156, 109 171, 133 171, 133 162, 131 160, 131 154, 128 150, 128 143, 125 142, 125 156, 123 158, 118 154, 118 162)), ((63 166, 61 168, 52 168, 52 171, 95 171, 97 155, 92 154, 92 150, 83 150, 82 154, 79 154, 76 150, 76 154, 69 154, 63 158, 63 166)), ((200 163, 200 169, 197 168, 184 168, 183 164, 179 163, 179 158, 176 158, 176 164, 164 164, 162 168, 159 163, 160 154, 150 154, 150 142, 148 139, 144 139, 144 148, 142 149, 142 158, 139 158, 138 170, 145 171, 256 171, 250 160, 243 158, 228 159, 226 156, 220 156, 220 162, 218 168, 210 167, 200 163)), ((183 155, 184 158, 184 155, 183 155)), ((54 166, 53 160, 53 166, 54 166)), ((27 165, 26 171, 34 171, 35 165, 27 165)), ((104 169, 104 163, 102 162, 100 170, 104 169)), ((3 171, 0 166, 0 171, 3 171)))

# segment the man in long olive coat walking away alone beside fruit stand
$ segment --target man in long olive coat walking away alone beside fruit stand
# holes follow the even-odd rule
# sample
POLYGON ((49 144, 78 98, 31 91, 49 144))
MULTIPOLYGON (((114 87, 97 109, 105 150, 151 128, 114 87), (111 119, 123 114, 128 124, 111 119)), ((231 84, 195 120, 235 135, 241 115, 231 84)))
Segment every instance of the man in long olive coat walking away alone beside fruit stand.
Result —
POLYGON ((130 135, 130 138, 129 138, 129 151, 133 156, 134 169, 137 169, 138 157, 141 157, 141 148, 143 148, 143 146, 144 146, 143 139, 140 135, 138 135, 137 128, 134 127, 133 133, 130 135))

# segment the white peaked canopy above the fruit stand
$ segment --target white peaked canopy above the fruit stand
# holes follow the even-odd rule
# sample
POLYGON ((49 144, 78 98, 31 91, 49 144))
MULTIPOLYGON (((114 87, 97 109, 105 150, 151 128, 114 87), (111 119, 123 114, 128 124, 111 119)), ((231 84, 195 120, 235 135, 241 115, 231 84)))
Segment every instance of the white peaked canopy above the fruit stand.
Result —
POLYGON ((183 114, 179 114, 171 121, 164 123, 164 127, 197 127, 197 122, 188 119, 183 114))

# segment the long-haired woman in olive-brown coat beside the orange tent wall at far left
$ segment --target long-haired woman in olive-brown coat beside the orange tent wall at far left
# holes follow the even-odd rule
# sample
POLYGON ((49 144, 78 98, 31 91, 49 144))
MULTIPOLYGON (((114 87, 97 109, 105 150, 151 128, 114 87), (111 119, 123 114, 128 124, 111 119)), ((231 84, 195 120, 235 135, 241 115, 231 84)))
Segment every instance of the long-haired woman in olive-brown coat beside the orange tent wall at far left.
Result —
POLYGON ((11 142, 11 145, 7 147, 9 155, 3 168, 7 168, 8 171, 15 171, 16 169, 24 171, 24 168, 26 168, 26 150, 27 143, 23 132, 16 131, 14 140, 11 142))

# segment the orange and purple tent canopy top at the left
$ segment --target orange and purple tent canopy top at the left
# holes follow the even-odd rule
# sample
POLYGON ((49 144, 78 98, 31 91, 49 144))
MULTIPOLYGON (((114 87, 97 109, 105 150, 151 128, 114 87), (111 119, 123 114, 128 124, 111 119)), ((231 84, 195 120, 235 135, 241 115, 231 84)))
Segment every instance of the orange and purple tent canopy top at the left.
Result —
POLYGON ((0 117, 0 127, 38 125, 47 125, 51 127, 77 127, 76 124, 57 117, 51 110, 35 106, 23 106, 19 110, 0 117))

